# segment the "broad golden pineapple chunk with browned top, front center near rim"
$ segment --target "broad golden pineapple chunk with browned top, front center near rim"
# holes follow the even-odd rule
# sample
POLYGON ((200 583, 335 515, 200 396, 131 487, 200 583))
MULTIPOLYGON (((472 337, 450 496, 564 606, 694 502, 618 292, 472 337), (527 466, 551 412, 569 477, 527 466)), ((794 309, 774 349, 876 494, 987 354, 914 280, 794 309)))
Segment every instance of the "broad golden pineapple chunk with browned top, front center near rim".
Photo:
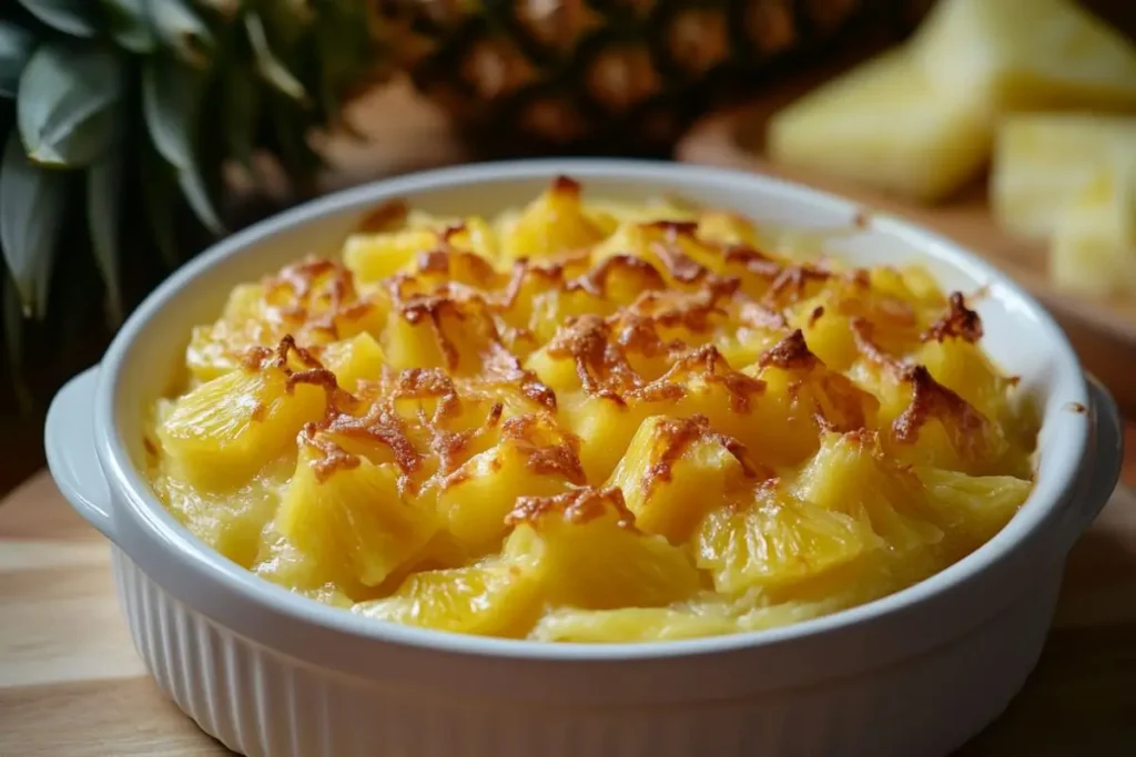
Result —
POLYGON ((662 607, 690 598, 699 573, 686 550, 633 524, 619 489, 524 497, 506 558, 533 566, 550 606, 662 607))

